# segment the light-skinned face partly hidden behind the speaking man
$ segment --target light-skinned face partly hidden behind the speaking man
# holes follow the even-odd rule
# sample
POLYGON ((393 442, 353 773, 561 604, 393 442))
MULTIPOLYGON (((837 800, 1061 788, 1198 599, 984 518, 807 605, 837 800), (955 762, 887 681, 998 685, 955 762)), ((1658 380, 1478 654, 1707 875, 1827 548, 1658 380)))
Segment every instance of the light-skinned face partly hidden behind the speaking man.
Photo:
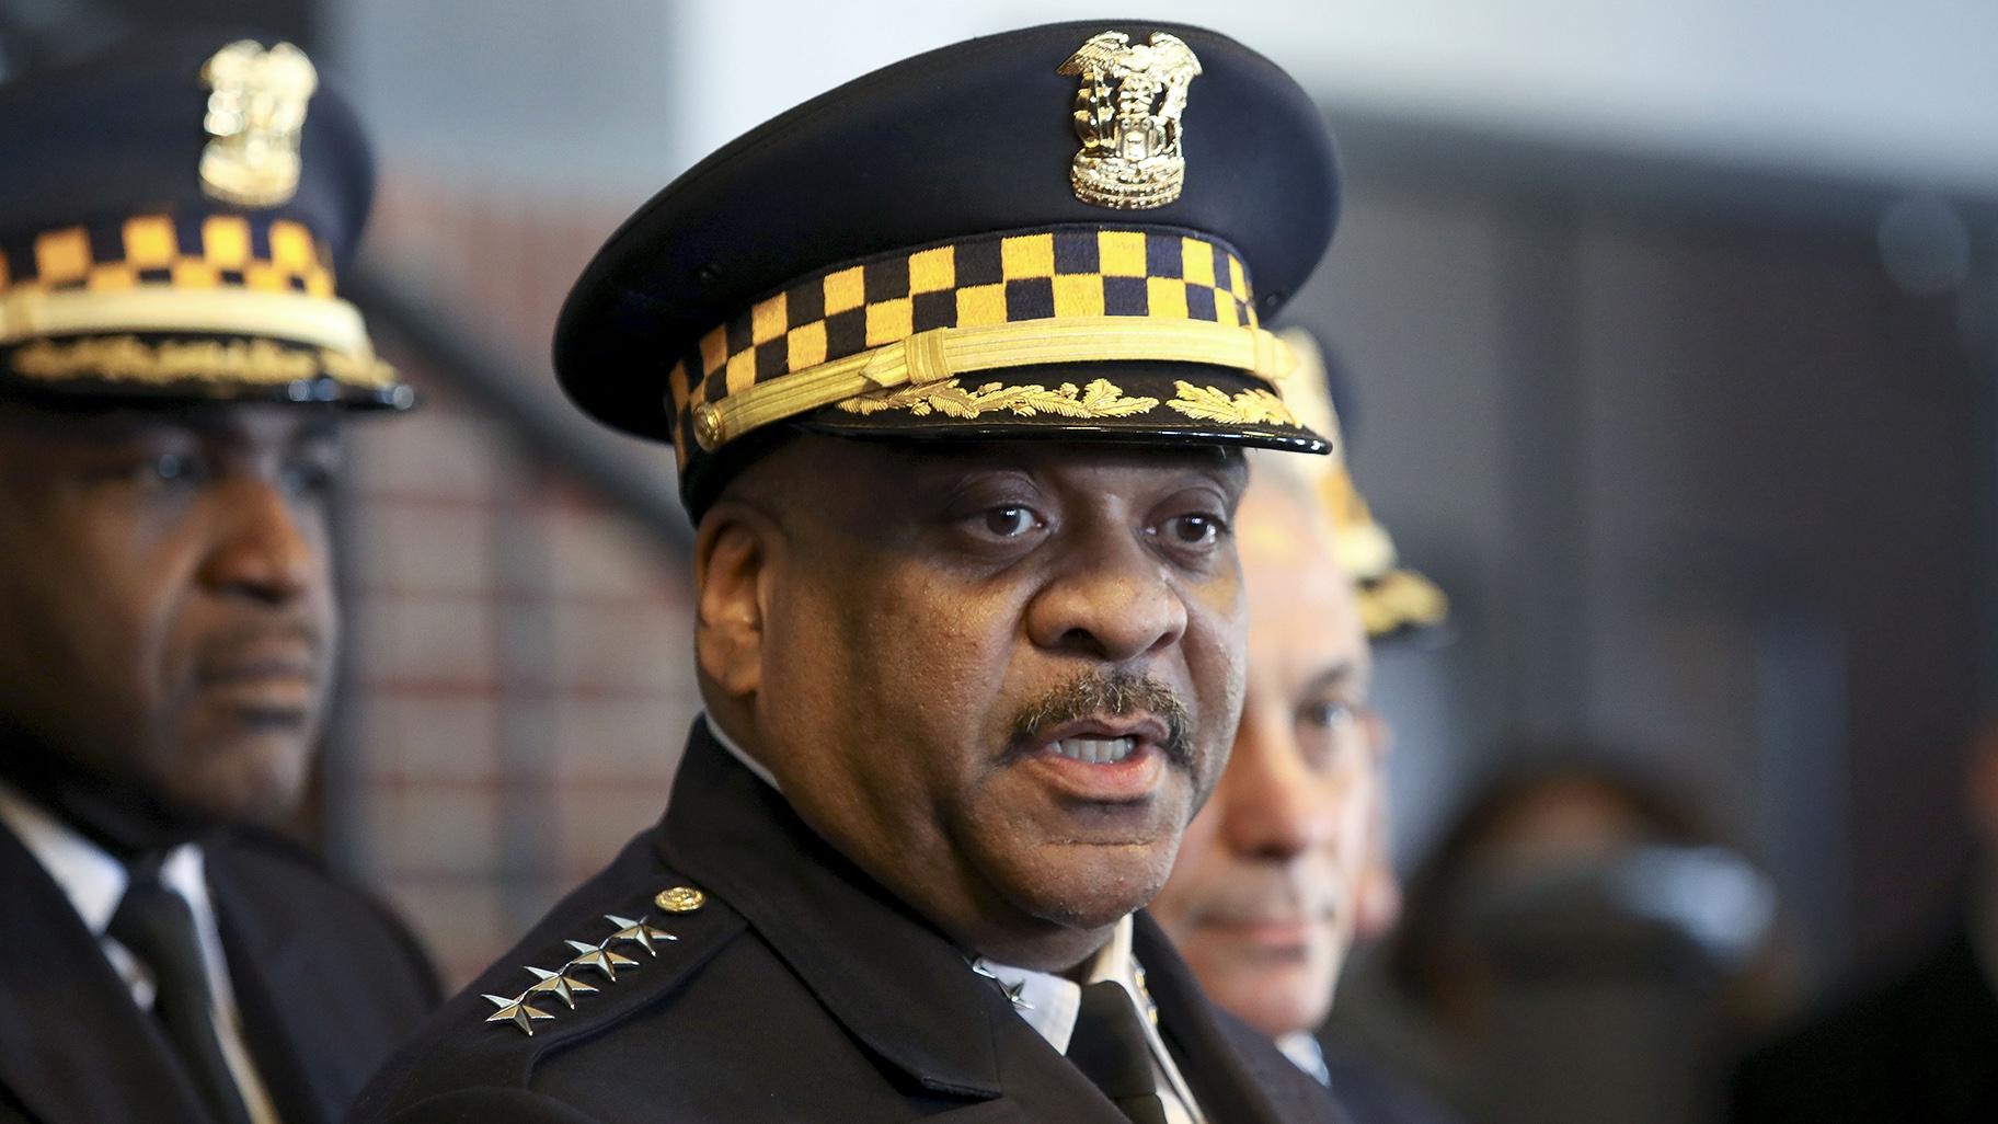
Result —
POLYGON ((1353 940, 1381 802, 1353 582, 1309 502, 1249 488, 1249 686, 1235 756, 1153 902, 1207 994, 1265 1034, 1311 1030, 1353 940))

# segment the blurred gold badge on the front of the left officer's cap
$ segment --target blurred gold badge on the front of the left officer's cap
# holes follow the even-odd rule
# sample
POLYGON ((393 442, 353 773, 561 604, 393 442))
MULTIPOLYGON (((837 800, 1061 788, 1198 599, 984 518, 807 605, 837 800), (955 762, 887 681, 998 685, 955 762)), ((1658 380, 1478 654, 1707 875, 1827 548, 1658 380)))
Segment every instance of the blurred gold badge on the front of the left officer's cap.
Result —
POLYGON ((238 40, 202 64, 212 138, 202 148, 202 192, 234 206, 278 206, 298 194, 298 134, 320 72, 296 46, 238 40))

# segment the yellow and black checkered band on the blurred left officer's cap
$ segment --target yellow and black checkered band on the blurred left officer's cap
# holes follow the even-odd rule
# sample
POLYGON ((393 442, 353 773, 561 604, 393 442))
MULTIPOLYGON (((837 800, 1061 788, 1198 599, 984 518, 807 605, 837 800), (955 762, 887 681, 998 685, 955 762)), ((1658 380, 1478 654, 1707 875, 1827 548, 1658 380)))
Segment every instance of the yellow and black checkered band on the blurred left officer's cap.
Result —
POLYGON ((142 214, 0 244, 0 294, 156 284, 334 296, 334 268, 304 224, 242 214, 142 214))

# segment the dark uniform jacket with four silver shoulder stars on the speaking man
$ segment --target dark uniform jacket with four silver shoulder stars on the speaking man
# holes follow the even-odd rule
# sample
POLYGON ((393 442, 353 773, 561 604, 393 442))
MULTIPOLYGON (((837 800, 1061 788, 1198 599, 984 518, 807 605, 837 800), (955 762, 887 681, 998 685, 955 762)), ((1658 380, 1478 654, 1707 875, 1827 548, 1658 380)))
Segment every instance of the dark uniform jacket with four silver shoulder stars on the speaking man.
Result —
MULTIPOLYGON (((1213 1124, 1339 1120, 1329 1094, 1215 1010, 1159 928, 1135 952, 1159 1026, 1213 1124)), ((358 1122, 979 1120, 1127 1124, 963 954, 841 858, 697 724, 665 820, 555 906, 368 1088, 358 1122), (655 894, 705 892, 695 912, 655 894), (488 1022, 523 966, 559 970, 645 918, 677 936, 601 990, 488 1022)))

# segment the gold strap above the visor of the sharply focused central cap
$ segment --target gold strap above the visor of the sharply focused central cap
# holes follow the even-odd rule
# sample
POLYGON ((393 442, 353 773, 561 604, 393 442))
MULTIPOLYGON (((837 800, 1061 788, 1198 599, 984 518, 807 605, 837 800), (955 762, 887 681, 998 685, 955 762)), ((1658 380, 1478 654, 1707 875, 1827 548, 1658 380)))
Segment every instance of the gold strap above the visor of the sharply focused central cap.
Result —
POLYGON ((703 450, 713 452, 759 426, 873 390, 1013 366, 1145 360, 1231 366, 1271 386, 1297 362, 1291 346, 1263 328, 1207 320, 1075 316, 933 328, 747 386, 719 402, 703 402, 693 412, 693 436, 703 450))

